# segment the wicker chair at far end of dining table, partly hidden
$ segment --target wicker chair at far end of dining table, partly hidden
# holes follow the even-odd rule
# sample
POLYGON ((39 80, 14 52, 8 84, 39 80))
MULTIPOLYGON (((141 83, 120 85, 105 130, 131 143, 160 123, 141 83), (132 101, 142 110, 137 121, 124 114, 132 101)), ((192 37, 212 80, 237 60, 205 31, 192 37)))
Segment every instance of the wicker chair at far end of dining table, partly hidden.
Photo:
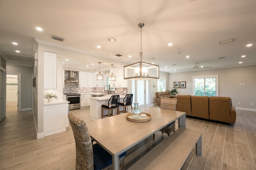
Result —
MULTIPOLYGON (((176 110, 177 99, 176 98, 161 98, 160 108, 176 110)), ((162 133, 167 133, 169 136, 172 132, 175 131, 175 121, 170 123, 166 127, 160 130, 162 133)))

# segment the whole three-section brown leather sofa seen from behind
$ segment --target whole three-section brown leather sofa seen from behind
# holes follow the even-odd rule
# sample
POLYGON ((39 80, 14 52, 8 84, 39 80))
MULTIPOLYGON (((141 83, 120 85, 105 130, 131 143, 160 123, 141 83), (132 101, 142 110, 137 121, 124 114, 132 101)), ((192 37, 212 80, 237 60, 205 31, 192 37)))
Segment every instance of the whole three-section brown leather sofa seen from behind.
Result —
POLYGON ((232 124, 236 122, 236 108, 229 97, 178 95, 176 110, 192 117, 232 124))

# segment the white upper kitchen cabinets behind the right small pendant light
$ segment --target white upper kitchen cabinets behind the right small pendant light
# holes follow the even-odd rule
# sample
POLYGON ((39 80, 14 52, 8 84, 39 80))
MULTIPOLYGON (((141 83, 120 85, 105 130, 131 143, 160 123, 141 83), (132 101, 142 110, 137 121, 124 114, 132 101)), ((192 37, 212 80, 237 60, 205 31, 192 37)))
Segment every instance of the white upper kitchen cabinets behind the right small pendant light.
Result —
MULTIPOLYGON (((110 75, 112 68, 110 69, 110 75)), ((127 80, 124 79, 124 67, 113 68, 113 74, 116 76, 116 81, 110 81, 110 87, 127 88, 127 80)))

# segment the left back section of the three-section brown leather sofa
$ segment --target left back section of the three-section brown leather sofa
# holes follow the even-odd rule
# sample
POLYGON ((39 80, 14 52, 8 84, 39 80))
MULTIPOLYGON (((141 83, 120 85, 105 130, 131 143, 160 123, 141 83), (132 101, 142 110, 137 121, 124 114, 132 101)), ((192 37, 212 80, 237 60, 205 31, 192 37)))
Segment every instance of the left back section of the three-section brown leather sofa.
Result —
POLYGON ((177 111, 186 112, 187 116, 192 116, 191 111, 191 95, 177 95, 177 111))

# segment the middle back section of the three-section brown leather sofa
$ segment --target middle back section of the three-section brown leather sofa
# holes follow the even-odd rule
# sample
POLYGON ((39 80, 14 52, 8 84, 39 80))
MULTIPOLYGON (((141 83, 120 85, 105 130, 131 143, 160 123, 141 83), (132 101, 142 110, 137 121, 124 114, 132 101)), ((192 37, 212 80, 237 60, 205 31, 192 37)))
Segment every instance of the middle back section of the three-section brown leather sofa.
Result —
POLYGON ((193 117, 209 119, 209 97, 191 96, 191 109, 193 117))

